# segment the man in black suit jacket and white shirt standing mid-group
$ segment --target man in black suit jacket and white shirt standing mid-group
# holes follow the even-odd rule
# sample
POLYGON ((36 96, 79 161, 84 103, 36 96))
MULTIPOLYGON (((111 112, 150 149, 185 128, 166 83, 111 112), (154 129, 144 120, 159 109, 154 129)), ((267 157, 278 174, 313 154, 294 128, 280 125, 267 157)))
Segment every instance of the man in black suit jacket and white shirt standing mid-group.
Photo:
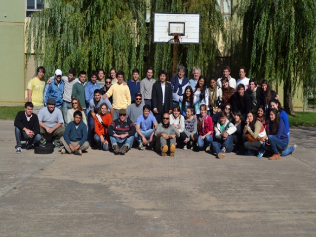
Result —
POLYGON ((171 84, 166 82, 167 72, 161 70, 159 72, 159 80, 154 83, 152 90, 152 108, 155 118, 160 123, 162 115, 172 113, 172 88, 171 84))

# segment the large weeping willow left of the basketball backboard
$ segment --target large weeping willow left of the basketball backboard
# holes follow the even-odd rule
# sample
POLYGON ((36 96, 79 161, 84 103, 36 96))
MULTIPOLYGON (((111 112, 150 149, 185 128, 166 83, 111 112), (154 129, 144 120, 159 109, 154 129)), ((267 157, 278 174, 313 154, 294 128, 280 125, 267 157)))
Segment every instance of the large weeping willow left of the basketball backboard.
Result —
POLYGON ((67 72, 107 72, 116 67, 142 70, 146 37, 146 0, 46 0, 49 8, 35 13, 26 26, 27 60, 52 75, 67 72))

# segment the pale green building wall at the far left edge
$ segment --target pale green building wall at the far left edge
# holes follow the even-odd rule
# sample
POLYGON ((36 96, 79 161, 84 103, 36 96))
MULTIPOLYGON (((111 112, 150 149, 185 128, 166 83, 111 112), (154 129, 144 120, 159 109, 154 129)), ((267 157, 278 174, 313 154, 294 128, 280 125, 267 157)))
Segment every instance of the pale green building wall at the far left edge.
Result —
POLYGON ((0 105, 24 104, 25 1, 0 0, 0 105))

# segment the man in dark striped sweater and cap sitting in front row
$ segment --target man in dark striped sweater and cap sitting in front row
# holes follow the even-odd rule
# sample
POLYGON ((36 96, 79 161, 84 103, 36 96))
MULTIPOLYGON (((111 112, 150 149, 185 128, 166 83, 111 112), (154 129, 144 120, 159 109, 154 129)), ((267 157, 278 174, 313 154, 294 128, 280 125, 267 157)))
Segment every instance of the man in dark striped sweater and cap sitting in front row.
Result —
POLYGON ((108 128, 115 155, 125 155, 134 142, 136 128, 131 120, 126 119, 126 113, 126 109, 118 110, 118 119, 113 120, 108 128))

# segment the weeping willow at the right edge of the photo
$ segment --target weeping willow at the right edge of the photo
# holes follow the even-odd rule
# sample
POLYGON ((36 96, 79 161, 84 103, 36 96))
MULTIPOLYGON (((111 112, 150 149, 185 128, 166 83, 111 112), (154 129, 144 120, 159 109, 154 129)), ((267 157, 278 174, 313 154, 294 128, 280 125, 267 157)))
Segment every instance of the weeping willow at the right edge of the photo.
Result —
POLYGON ((304 99, 316 89, 316 1, 240 0, 243 50, 249 75, 283 83, 284 109, 293 114, 292 92, 304 99))

